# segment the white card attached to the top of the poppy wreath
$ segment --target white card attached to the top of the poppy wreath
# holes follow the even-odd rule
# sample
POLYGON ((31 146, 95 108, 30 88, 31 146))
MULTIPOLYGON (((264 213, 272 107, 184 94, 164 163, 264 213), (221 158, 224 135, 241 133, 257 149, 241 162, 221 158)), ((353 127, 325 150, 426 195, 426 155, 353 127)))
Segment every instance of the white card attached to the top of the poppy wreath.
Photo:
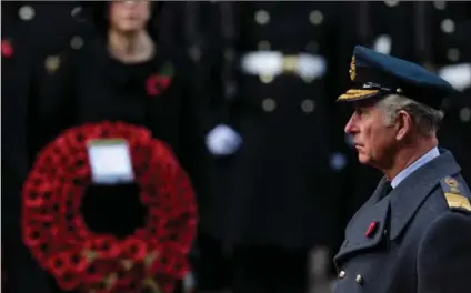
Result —
POLYGON ((129 144, 123 139, 93 140, 88 143, 93 183, 119 184, 134 180, 129 144))

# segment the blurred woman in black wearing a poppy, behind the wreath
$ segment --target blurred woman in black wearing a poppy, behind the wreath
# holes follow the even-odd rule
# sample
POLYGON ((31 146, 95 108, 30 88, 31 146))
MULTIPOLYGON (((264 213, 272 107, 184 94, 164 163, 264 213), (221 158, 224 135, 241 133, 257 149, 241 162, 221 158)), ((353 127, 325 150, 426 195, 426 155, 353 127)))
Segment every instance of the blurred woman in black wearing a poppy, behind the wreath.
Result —
MULTIPOLYGON (((190 79, 192 63, 164 34, 176 33, 176 27, 168 27, 174 22, 163 22, 161 2, 108 1, 86 6, 94 23, 92 38, 84 41, 81 50, 69 50, 49 60, 47 74, 38 82, 33 153, 71 127, 122 121, 149 129, 154 138, 171 146, 187 169, 188 134, 199 113, 193 99, 198 89, 190 79)), ((112 204, 110 210, 119 211, 111 212, 121 215, 113 224, 119 233, 130 228, 129 222, 143 216, 142 210, 120 206, 109 199, 104 204, 112 204)), ((91 212, 96 224, 106 222, 109 215, 104 210, 108 209, 91 212)))

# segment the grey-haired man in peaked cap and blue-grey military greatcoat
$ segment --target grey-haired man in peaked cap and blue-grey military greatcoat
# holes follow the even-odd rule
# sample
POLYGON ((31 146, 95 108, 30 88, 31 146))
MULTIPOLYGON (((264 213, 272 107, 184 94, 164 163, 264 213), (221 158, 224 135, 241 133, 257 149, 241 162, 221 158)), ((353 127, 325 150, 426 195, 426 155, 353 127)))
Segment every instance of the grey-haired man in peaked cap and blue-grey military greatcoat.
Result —
POLYGON ((347 226, 334 292, 469 292, 471 192, 437 139, 453 88, 360 46, 350 77, 352 88, 338 99, 354 105, 345 132, 360 163, 384 176, 347 226))

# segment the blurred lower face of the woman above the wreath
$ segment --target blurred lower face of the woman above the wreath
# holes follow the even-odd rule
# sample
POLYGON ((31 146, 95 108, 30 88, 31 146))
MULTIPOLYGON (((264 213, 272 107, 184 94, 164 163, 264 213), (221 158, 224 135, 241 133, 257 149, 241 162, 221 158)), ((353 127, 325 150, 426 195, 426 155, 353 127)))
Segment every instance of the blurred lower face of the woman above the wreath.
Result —
POLYGON ((111 1, 110 26, 120 32, 130 33, 146 29, 150 18, 148 0, 111 1))

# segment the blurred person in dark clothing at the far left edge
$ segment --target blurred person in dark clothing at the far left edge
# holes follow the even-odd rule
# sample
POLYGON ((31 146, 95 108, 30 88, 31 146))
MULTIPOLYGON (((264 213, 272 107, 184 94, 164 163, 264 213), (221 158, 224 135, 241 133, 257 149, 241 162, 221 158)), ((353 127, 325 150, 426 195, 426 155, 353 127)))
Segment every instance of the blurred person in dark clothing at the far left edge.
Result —
POLYGON ((86 27, 77 1, 2 1, 2 270, 6 292, 51 292, 48 276, 23 245, 21 185, 33 154, 29 133, 36 69, 49 54, 80 46, 86 27))

